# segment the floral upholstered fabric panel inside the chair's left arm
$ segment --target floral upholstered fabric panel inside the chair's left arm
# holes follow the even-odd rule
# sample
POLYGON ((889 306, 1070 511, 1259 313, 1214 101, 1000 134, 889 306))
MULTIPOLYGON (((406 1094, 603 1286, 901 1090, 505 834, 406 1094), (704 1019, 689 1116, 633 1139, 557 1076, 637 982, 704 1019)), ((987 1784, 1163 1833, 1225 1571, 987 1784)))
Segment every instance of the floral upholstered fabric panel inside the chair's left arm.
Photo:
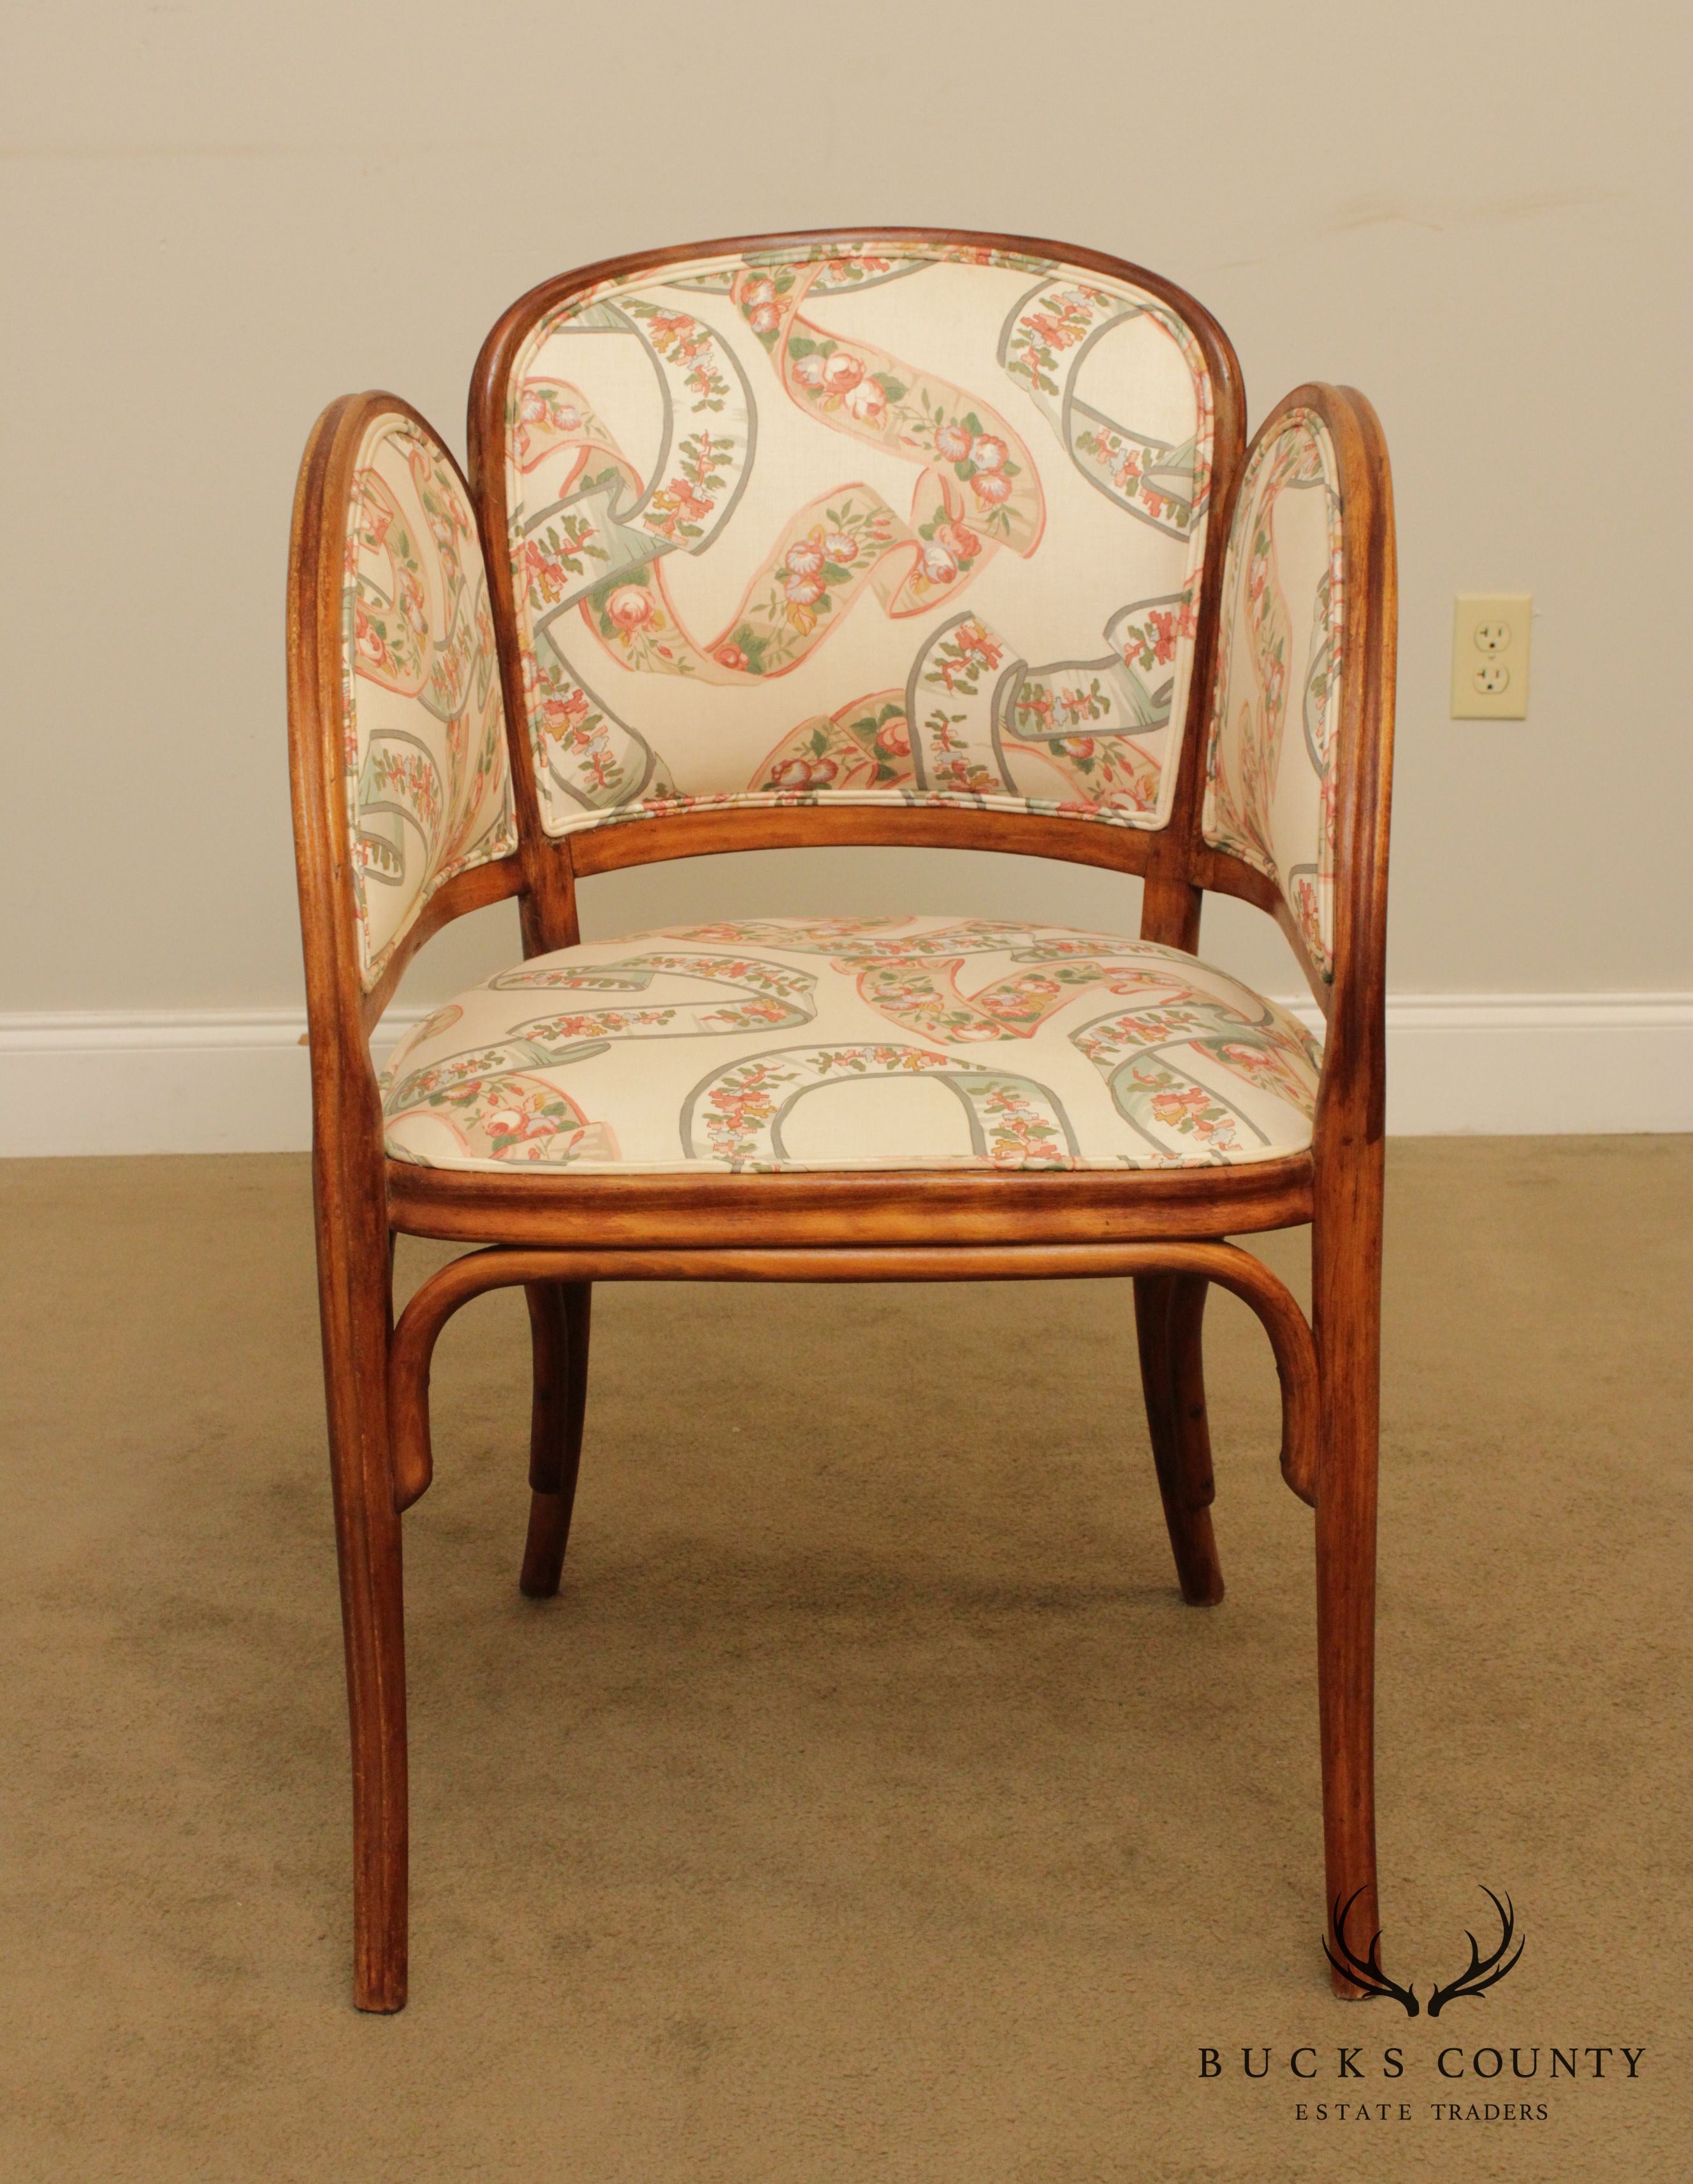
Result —
POLYGON ((518 845, 487 570, 443 448, 393 411, 347 505, 345 780, 369 989, 428 898, 518 845))

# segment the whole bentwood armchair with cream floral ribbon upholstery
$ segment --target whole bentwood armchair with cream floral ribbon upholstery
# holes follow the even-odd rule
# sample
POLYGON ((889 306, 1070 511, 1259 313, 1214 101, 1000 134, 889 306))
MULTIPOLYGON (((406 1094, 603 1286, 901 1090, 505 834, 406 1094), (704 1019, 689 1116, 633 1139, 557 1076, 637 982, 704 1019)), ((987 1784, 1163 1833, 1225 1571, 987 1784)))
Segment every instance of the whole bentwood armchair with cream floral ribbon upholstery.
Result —
POLYGON ((1245 1297, 1315 1509, 1326 1946, 1376 1933, 1392 491, 1350 389, 1243 439, 1234 352, 1180 288, 922 229, 546 282, 483 347, 470 483, 393 395, 312 430, 291 736, 363 2009, 406 1996, 400 1535, 430 1350, 496 1286, 533 1330, 540 1597, 594 1282, 1127 1275, 1182 1597, 1217 1603, 1201 1315, 1212 1282, 1245 1297), (579 941, 592 874, 815 843, 1138 874, 1140 937, 887 915, 579 941), (1282 926, 1322 1046, 1197 957, 1206 889, 1282 926), (378 1077, 409 957, 507 895, 524 959, 378 1077), (1306 1223, 1311 1324, 1226 1241, 1306 1223), (481 1247, 398 1324, 395 1234, 481 1247))

